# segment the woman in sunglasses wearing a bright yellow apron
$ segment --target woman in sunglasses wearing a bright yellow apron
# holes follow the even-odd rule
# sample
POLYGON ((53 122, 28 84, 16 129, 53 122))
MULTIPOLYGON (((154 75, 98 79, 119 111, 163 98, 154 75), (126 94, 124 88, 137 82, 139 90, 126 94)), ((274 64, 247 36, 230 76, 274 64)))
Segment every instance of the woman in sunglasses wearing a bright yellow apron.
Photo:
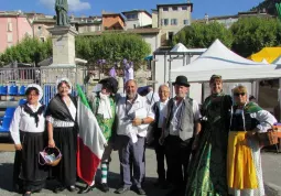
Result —
POLYGON ((275 118, 248 100, 247 88, 234 88, 231 126, 228 138, 227 182, 235 196, 264 196, 259 132, 266 132, 275 118))

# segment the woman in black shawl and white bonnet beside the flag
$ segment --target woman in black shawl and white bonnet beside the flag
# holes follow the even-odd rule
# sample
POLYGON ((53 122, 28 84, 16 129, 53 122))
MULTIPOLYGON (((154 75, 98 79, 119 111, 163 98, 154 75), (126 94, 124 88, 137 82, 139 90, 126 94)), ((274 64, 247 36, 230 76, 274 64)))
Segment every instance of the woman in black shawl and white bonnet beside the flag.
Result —
POLYGON ((58 94, 50 101, 46 110, 48 146, 58 148, 62 160, 52 167, 52 176, 56 177, 60 186, 54 193, 67 188, 74 192, 76 183, 76 150, 77 131, 76 111, 77 101, 71 96, 72 84, 67 78, 57 81, 58 94))

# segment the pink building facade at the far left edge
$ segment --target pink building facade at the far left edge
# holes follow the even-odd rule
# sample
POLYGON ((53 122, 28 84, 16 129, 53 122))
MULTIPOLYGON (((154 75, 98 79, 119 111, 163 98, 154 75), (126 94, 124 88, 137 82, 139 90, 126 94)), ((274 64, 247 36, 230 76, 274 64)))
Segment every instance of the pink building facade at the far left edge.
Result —
POLYGON ((0 12, 0 53, 32 35, 32 26, 21 11, 0 12))

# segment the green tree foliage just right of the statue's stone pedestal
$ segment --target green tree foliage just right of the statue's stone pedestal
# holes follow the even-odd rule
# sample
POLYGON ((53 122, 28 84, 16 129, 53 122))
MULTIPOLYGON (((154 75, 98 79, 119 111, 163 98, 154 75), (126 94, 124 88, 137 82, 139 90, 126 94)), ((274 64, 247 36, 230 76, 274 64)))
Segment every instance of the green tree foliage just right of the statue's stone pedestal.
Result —
POLYGON ((150 52, 150 45, 137 34, 104 33, 100 36, 76 37, 76 56, 89 63, 106 59, 110 65, 127 58, 139 66, 150 52))

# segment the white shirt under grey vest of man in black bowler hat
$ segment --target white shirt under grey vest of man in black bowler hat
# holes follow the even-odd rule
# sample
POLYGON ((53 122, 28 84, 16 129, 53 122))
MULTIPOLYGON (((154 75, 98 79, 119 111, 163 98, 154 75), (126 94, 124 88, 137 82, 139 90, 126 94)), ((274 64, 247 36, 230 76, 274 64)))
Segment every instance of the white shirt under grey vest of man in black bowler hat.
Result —
MULTIPOLYGON (((183 106, 183 100, 181 100, 181 102, 179 105, 176 105, 176 99, 173 99, 174 101, 174 107, 173 107, 173 118, 171 120, 171 124, 169 128, 169 133, 171 135, 180 135, 180 124, 179 124, 179 118, 181 118, 181 110, 182 110, 182 106, 183 106)), ((201 119, 201 111, 199 111, 199 106, 198 102, 196 100, 193 99, 193 104, 192 104, 192 110, 193 110, 193 117, 194 117, 194 121, 197 121, 201 119)), ((165 107, 164 111, 164 117, 167 117, 167 107, 165 107)))

